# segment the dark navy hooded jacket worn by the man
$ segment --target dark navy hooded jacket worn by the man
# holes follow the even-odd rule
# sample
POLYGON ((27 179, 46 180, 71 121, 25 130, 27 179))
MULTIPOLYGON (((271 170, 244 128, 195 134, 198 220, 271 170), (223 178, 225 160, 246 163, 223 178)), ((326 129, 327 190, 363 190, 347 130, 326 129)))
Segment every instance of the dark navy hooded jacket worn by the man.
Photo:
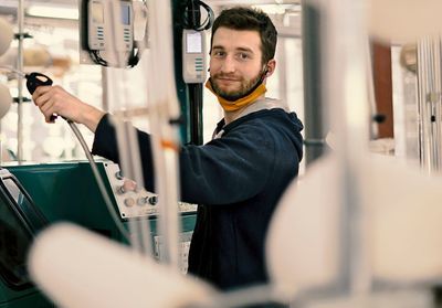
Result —
MULTIPOLYGON (((181 200, 201 204, 191 274, 221 289, 267 282, 265 235, 281 194, 298 173, 302 129, 294 113, 263 109, 222 127, 221 138, 181 148, 181 200)), ((152 191, 150 136, 138 131, 138 138, 146 189, 152 191)), ((98 124, 93 153, 118 161, 108 116, 98 124)))

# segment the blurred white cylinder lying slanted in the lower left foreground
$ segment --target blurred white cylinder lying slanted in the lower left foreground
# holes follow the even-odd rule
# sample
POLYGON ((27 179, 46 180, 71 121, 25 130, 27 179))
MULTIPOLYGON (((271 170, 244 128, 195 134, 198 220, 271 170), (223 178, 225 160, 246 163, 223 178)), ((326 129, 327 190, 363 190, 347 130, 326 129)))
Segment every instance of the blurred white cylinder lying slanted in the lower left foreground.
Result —
POLYGON ((202 283, 67 223, 43 231, 28 263, 38 286, 66 308, 206 307, 212 294, 202 283))

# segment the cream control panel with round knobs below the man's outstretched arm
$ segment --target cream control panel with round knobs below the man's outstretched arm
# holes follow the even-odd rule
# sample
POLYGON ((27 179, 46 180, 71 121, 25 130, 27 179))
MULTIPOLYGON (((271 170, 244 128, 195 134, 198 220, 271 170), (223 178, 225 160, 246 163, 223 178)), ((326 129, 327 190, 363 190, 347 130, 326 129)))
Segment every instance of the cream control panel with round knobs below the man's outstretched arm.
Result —
MULTIPOLYGON (((105 162, 104 169, 122 219, 150 216, 159 213, 158 194, 138 187, 133 180, 126 179, 116 163, 105 162)), ((197 205, 178 202, 178 210, 180 213, 196 212, 197 205)))

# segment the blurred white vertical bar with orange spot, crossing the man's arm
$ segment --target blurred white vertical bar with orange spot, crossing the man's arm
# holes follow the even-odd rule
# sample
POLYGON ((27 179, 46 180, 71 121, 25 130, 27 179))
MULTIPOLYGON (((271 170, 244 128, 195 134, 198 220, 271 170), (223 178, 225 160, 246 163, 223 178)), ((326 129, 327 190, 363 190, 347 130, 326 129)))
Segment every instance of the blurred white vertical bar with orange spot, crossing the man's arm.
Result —
POLYGON ((171 123, 180 116, 175 83, 172 44, 171 1, 149 1, 150 67, 156 78, 150 79, 149 93, 151 113, 149 123, 152 130, 155 183, 159 200, 158 225, 162 234, 166 262, 179 268, 179 231, 177 202, 179 198, 178 127, 171 123), (166 32, 165 32, 166 30, 166 32), (172 146, 173 145, 173 146, 172 146))

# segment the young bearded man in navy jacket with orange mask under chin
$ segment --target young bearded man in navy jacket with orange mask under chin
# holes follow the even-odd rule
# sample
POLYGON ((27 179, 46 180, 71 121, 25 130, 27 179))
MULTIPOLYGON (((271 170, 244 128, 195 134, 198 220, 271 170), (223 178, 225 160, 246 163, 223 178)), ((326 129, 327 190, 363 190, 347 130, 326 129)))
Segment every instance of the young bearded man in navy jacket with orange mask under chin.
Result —
MULTIPOLYGON (((303 126, 285 102, 265 97, 275 71, 276 30, 256 10, 232 8, 212 29, 210 78, 224 118, 203 146, 179 153, 181 199, 198 203, 189 272, 221 289, 266 283, 264 243, 282 192, 298 173, 303 126)), ((109 115, 59 86, 33 99, 46 120, 59 114, 95 131, 93 153, 118 161, 109 115)), ((146 188, 154 190, 150 136, 138 132, 146 188)))

